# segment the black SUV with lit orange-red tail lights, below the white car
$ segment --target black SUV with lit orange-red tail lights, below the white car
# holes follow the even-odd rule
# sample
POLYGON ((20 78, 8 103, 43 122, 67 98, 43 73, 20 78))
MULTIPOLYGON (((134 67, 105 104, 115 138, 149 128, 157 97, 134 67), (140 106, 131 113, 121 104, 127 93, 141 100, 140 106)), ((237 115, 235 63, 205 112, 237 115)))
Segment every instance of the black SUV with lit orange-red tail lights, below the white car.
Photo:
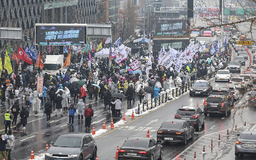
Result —
POLYGON ((204 105, 204 115, 209 113, 221 113, 225 116, 231 113, 232 106, 226 95, 210 95, 204 105))

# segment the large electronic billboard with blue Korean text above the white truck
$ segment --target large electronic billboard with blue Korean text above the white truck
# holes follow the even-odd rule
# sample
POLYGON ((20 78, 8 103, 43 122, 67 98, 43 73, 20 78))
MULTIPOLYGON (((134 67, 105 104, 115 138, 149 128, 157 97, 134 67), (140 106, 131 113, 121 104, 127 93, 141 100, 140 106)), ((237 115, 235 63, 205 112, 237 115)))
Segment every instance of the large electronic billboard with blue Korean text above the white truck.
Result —
POLYGON ((86 26, 58 24, 36 26, 37 45, 84 45, 86 26))

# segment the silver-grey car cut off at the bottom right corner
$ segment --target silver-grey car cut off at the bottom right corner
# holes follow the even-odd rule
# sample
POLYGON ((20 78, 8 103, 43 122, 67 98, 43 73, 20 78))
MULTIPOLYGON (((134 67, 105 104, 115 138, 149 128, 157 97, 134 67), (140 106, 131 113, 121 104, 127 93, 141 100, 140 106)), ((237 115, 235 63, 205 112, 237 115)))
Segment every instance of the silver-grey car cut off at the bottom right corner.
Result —
POLYGON ((255 154, 256 153, 256 131, 243 131, 235 146, 235 155, 255 154))

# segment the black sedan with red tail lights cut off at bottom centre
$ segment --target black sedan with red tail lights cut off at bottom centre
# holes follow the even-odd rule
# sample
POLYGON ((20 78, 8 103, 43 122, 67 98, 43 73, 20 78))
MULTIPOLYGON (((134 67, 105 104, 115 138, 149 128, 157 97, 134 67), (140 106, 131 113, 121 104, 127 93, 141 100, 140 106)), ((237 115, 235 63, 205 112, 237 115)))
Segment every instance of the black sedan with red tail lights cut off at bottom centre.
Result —
POLYGON ((153 138, 131 137, 118 151, 119 159, 163 159, 163 146, 153 138))

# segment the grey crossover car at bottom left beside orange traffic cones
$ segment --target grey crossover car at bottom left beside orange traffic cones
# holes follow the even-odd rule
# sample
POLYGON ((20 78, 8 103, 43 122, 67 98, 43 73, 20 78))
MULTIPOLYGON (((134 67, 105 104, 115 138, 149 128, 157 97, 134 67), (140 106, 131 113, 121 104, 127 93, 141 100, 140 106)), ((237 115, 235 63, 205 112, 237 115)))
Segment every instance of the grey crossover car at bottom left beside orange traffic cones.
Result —
POLYGON ((97 145, 90 133, 62 134, 46 151, 45 160, 96 159, 97 145))

